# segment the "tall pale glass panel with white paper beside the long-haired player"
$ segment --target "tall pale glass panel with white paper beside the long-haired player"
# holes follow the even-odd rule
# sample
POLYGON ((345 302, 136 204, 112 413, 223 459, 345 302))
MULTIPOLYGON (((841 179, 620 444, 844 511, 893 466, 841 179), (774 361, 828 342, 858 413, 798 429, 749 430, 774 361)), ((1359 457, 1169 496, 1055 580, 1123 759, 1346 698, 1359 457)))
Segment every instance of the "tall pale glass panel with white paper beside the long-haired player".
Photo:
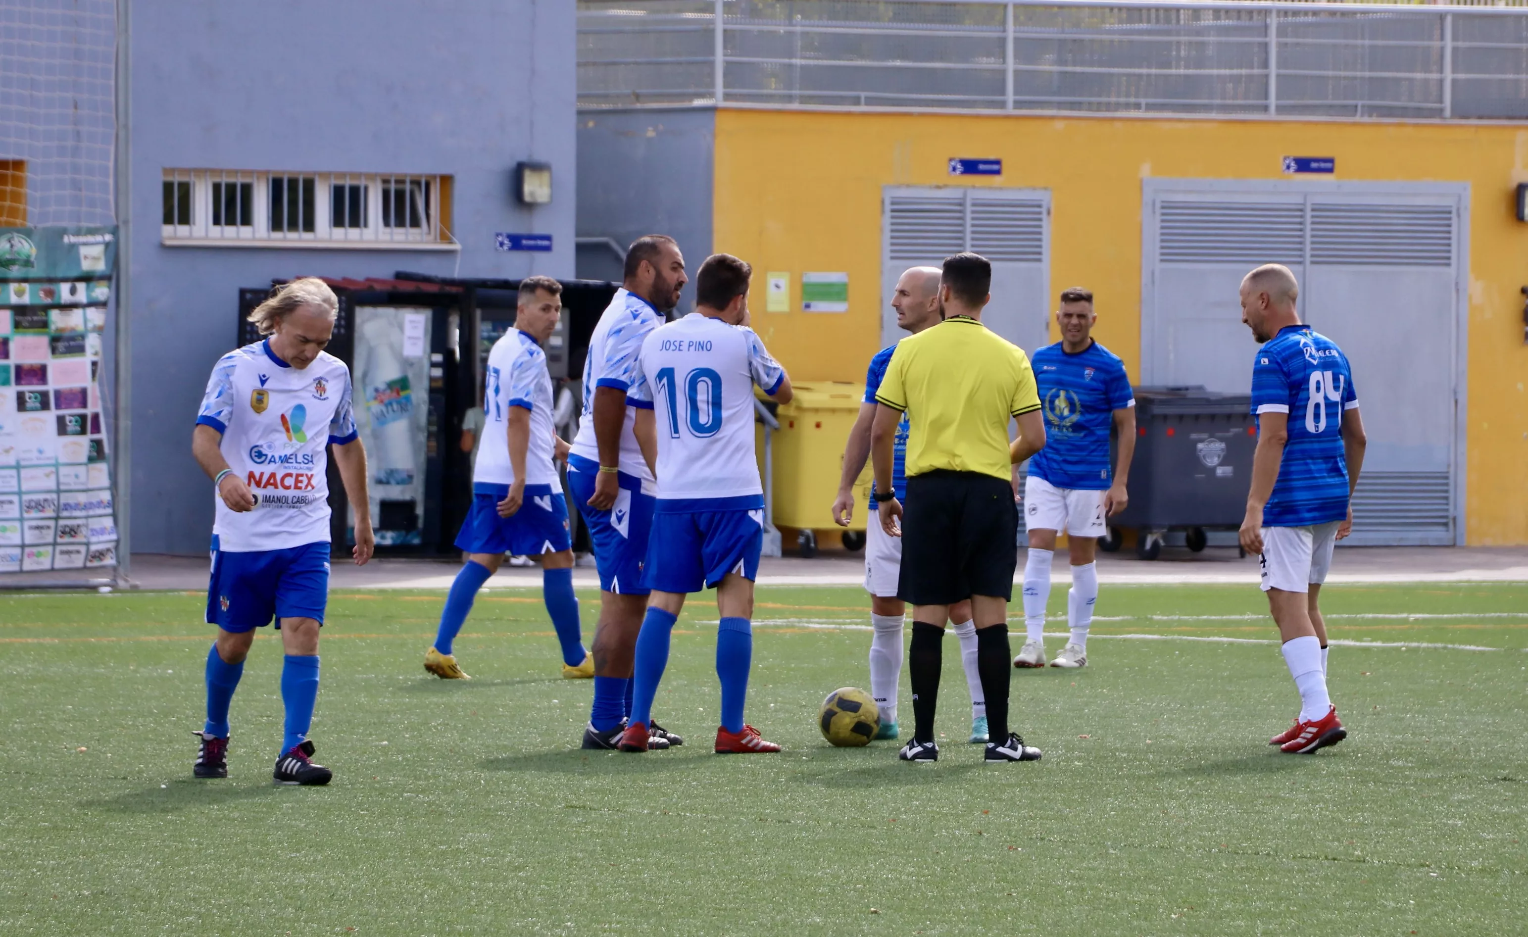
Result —
MULTIPOLYGON (((425 527, 429 309, 356 307, 356 430, 367 448, 377 546, 417 544, 425 527)), ((351 515, 351 529, 354 517, 351 515)))

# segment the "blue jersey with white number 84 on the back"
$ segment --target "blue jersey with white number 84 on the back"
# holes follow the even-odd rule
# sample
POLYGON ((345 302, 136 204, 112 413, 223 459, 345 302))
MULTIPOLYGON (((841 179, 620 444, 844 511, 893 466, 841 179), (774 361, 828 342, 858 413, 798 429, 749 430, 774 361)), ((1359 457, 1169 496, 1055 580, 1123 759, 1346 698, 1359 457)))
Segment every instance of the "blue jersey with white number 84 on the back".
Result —
POLYGON ((1305 527, 1348 517, 1342 414, 1355 407, 1358 394, 1348 358, 1309 326, 1285 326, 1258 350, 1251 411, 1290 416, 1279 480, 1262 509, 1265 527, 1305 527))

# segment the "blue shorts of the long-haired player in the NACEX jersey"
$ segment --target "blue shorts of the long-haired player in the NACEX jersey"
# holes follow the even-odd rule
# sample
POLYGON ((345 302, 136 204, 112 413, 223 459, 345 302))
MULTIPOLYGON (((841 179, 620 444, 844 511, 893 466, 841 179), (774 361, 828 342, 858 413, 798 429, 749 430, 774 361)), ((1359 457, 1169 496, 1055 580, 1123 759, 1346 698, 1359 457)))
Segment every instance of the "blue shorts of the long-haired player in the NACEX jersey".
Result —
POLYGON ((225 553, 212 537, 212 576, 206 585, 206 624, 243 633, 283 618, 324 624, 329 604, 329 541, 284 550, 225 553))

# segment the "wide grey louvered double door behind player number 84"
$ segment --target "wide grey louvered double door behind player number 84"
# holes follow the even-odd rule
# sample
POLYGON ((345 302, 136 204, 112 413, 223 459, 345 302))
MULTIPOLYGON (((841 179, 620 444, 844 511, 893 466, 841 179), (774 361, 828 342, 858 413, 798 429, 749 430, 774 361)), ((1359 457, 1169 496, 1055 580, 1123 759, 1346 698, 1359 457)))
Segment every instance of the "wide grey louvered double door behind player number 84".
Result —
POLYGON ((1351 543, 1461 543, 1467 186, 1149 179, 1143 194, 1141 382, 1245 393, 1241 278, 1290 266, 1305 321, 1352 362, 1369 436, 1351 543))

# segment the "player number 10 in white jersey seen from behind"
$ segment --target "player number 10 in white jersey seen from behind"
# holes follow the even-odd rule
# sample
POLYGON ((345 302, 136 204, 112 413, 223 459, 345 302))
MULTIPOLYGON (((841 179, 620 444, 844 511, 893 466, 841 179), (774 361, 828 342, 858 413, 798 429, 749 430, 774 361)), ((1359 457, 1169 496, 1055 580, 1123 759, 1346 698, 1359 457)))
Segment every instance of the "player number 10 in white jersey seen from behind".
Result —
POLYGON ((764 486, 753 452, 753 385, 781 404, 790 379, 749 324, 753 267, 714 254, 695 274, 695 312, 642 342, 631 399, 657 410, 659 497, 643 575, 652 590, 637 636, 631 723, 620 751, 649 747, 652 697, 685 596, 717 590, 718 754, 778 752, 743 721, 753 660, 753 579, 764 546, 764 486))

